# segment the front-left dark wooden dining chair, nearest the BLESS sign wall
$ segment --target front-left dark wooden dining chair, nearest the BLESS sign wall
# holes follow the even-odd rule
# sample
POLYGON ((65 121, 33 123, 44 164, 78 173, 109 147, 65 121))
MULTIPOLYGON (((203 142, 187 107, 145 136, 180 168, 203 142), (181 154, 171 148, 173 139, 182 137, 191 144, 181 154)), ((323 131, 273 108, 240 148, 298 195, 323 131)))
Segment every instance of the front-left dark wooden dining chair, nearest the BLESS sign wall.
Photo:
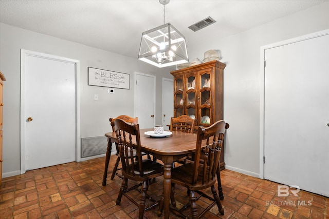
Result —
MULTIPOLYGON (((145 208, 145 199, 148 197, 149 180, 163 175, 163 166, 149 159, 142 160, 138 124, 126 123, 123 120, 116 119, 111 122, 111 126, 116 133, 123 174, 123 181, 116 204, 120 204, 122 195, 126 196, 139 207, 138 218, 142 219, 145 210, 149 210, 158 205, 158 202, 155 202, 151 206, 145 208), (136 155, 133 155, 134 151, 136 155), (135 156, 137 156, 137 160, 135 160, 135 156), (128 180, 142 182, 139 203, 127 194, 131 191, 131 189, 127 189, 128 180)), ((148 199, 152 200, 150 197, 148 197, 148 199)))

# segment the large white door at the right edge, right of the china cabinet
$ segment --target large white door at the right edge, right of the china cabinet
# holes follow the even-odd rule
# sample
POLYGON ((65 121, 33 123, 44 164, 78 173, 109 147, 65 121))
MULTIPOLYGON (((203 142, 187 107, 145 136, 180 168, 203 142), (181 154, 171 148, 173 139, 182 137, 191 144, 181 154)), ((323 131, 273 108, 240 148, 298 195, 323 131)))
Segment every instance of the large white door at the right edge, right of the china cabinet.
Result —
POLYGON ((264 178, 329 196, 329 35, 265 60, 264 178))

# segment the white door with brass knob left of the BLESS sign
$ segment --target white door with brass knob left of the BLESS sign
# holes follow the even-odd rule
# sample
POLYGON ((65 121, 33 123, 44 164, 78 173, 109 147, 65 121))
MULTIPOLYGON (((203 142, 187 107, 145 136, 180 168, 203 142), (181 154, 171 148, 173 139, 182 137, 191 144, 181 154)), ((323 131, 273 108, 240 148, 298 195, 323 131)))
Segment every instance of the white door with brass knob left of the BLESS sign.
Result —
POLYGON ((23 52, 22 58, 21 172, 75 161, 75 63, 23 52))

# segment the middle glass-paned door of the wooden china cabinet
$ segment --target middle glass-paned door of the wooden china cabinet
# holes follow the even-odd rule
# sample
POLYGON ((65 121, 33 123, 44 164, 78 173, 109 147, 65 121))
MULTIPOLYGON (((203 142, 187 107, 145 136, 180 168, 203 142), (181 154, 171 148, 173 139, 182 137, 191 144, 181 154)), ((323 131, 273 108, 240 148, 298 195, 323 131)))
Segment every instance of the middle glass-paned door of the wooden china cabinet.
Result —
POLYGON ((186 84, 186 115, 190 116, 191 118, 196 118, 196 72, 192 72, 186 75, 186 84))

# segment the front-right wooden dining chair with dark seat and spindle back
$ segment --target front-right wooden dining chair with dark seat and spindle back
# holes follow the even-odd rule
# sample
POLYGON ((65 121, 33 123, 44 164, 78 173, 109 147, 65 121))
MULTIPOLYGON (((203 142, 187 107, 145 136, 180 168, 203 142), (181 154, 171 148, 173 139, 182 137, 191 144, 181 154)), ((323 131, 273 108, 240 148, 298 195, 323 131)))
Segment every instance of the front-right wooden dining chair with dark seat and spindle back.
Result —
MULTIPOLYGON (((219 161, 221 148, 223 145, 226 123, 221 120, 215 122, 208 128, 198 127, 196 151, 193 156, 193 163, 187 163, 171 171, 171 201, 176 207, 174 191, 175 185, 186 187, 189 191, 190 202, 180 209, 171 209, 175 214, 186 217, 182 213, 187 207, 191 207, 192 218, 202 217, 215 204, 219 212, 224 215, 224 209, 220 197, 217 194, 215 183, 217 180, 217 169, 220 168, 219 161), (204 151, 204 152, 202 152, 204 151), (200 155, 204 153, 203 161, 200 161, 200 155), (200 190, 211 188, 213 198, 200 190), (195 193, 198 195, 196 196, 195 193), (211 204, 198 214, 196 201, 203 196, 208 198, 211 204)), ((204 203, 205 204, 205 203, 204 203)), ((158 215, 161 215, 163 209, 163 197, 161 198, 158 215)))

